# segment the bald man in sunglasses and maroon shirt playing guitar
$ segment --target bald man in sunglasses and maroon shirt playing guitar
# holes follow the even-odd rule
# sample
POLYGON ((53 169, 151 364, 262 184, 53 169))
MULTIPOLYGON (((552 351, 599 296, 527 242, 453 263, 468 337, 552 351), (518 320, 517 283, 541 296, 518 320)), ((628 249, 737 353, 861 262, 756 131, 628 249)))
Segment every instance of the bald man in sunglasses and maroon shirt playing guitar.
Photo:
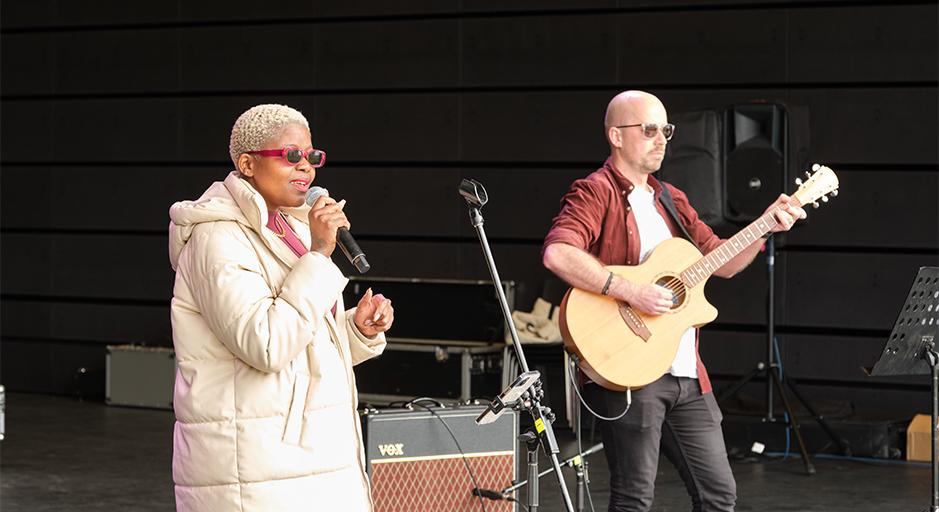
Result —
MULTIPOLYGON (((652 177, 675 131, 658 98, 642 91, 618 94, 607 107, 604 128, 610 157, 603 167, 575 181, 561 200, 561 212, 544 242, 544 265, 571 286, 609 295, 647 315, 661 315, 672 306, 668 290, 630 282, 604 266, 638 265, 660 242, 681 236, 682 227, 704 254, 723 240, 698 218, 682 191, 652 177), (662 197, 663 188, 670 192, 681 227, 663 206, 668 201, 662 197)), ((805 218, 805 211, 790 204, 785 194, 766 211, 771 209, 777 209, 776 232, 805 218)), ((751 245, 715 274, 729 278, 740 272, 761 245, 751 245)), ((605 411, 601 414, 616 415, 626 407, 622 392, 588 383, 584 393, 605 411)), ((609 510, 651 508, 660 446, 685 482, 693 510, 733 510, 736 483, 721 419, 698 354, 696 329, 690 328, 668 373, 633 391, 622 418, 601 422, 610 467, 609 510)))

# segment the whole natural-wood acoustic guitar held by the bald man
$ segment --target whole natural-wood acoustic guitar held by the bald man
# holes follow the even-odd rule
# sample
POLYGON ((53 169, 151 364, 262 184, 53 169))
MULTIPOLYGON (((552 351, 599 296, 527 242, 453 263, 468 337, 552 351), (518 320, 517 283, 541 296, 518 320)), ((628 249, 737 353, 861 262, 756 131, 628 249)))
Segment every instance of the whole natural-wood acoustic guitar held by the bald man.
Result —
MULTIPOLYGON (((792 194, 796 206, 828 201, 837 195, 838 177, 815 164, 792 194)), ((747 247, 762 242, 777 221, 773 211, 750 223, 702 256, 682 238, 659 244, 640 265, 606 267, 633 283, 655 283, 672 293, 672 307, 663 315, 646 315, 612 297, 571 288, 561 302, 564 347, 575 354, 588 377, 614 391, 637 389, 664 375, 675 359, 682 334, 717 318, 704 297, 704 284, 717 269, 747 247)))

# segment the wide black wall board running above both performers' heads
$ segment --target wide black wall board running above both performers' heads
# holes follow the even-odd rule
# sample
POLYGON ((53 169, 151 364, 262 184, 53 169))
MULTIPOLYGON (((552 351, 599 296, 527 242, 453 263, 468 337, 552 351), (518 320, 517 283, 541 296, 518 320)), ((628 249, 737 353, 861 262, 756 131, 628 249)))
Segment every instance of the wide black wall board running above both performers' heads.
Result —
POLYGON ((53 78, 53 68, 39 64, 59 68, 58 94, 935 80, 930 24, 936 14, 930 5, 868 6, 847 15, 841 9, 586 11, 329 23, 308 18, 286 30, 255 23, 53 37, 25 32, 4 36, 13 46, 5 54, 13 69, 33 68, 39 80, 5 85, 12 86, 7 94, 52 92, 42 79, 53 78), (276 65, 284 48, 291 48, 284 60, 306 63, 306 72, 249 71, 276 65))

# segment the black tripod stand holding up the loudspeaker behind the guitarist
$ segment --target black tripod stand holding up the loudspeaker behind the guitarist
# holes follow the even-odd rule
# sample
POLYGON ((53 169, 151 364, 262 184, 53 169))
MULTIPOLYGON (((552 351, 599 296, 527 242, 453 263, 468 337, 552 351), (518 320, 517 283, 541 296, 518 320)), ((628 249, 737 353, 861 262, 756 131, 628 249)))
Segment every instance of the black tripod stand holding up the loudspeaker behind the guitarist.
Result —
POLYGON ((796 415, 793 413, 791 402, 789 401, 789 396, 786 392, 788 388, 793 395, 799 400, 803 407, 812 415, 813 419, 818 422, 822 427, 828 437, 838 446, 841 450, 841 453, 844 455, 850 455, 850 449, 847 444, 839 439, 834 431, 831 429, 831 426, 828 424, 828 421, 825 420, 815 408, 809 404, 809 402, 799 393, 799 390, 796 388, 795 384, 792 382, 791 377, 785 379, 782 378, 782 368, 779 364, 779 361, 776 360, 775 356, 775 343, 776 343, 776 300, 775 300, 775 267, 776 267, 776 245, 774 241, 774 236, 770 236, 766 241, 766 272, 767 272, 767 297, 766 297, 766 361, 760 361, 757 363, 756 368, 753 369, 749 374, 745 375, 743 378, 738 380, 736 383, 731 385, 726 391, 721 393, 718 397, 718 402, 722 403, 727 398, 736 394, 744 385, 749 383, 755 377, 766 374, 766 415, 763 417, 763 421, 770 424, 777 424, 776 413, 773 411, 773 390, 775 389, 776 393, 779 394, 780 400, 782 400, 783 409, 786 411, 785 418, 782 423, 778 423, 783 426, 792 428, 793 434, 796 437, 796 444, 799 446, 799 453, 802 455, 802 462, 805 466, 805 472, 808 475, 815 474, 815 463, 812 460, 812 456, 809 454, 808 449, 805 447, 805 440, 802 438, 802 431, 799 428, 799 422, 796 419, 796 415))

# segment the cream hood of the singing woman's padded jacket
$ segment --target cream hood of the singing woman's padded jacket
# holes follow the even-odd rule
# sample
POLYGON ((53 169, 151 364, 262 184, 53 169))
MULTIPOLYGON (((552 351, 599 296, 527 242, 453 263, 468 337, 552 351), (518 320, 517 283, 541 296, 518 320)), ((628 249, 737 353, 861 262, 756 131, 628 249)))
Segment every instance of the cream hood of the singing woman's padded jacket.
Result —
MULTIPOLYGON (((284 208, 282 211, 306 224, 310 207, 284 208)), ((237 171, 225 181, 216 181, 195 201, 179 201, 170 207, 170 264, 176 270, 179 255, 192 237, 193 230, 204 222, 237 222, 261 233, 267 224, 267 204, 250 183, 237 171)))

